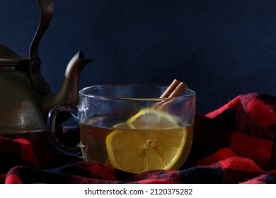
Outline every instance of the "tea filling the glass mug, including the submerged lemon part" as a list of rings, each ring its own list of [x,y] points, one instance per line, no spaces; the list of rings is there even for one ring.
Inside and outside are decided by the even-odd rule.
[[[180,168],[190,153],[193,124],[135,129],[129,122],[111,118],[93,117],[86,124],[80,123],[82,153],[86,160],[140,173]]]

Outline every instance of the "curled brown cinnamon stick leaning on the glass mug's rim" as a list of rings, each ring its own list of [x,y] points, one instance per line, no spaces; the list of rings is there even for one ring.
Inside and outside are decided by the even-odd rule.
[[[188,88],[187,84],[180,82],[176,79],[173,80],[170,86],[163,92],[163,94],[159,98],[173,98],[180,96],[186,89]],[[167,107],[172,100],[162,101],[156,103],[153,108],[162,110]]]

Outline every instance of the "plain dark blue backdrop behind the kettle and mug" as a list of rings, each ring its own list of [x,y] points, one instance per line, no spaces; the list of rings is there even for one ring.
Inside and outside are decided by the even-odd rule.
[[[39,18],[35,0],[1,1],[0,43],[28,57]],[[207,113],[239,94],[276,95],[276,1],[54,1],[39,50],[53,92],[81,50],[94,59],[81,88],[178,78]]]

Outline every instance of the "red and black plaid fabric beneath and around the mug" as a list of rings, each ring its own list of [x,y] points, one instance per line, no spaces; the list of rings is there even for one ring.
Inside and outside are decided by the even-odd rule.
[[[196,115],[192,151],[180,170],[132,174],[60,154],[45,165],[47,155],[42,163],[32,142],[0,137],[0,182],[276,183],[275,133],[276,98],[250,93]]]

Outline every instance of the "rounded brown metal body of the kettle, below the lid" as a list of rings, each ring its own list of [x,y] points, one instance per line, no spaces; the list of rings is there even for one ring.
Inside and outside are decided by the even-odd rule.
[[[0,133],[45,130],[41,96],[25,70],[0,68]]]

